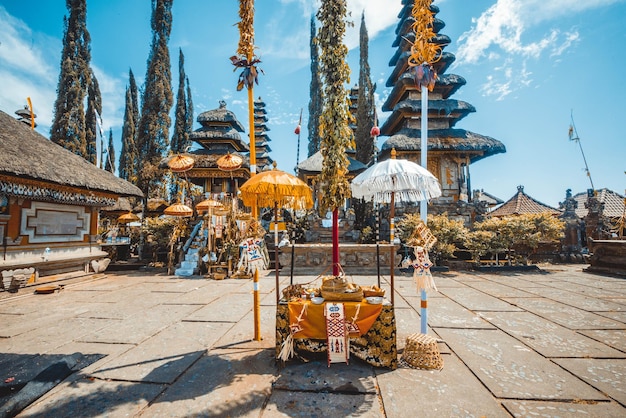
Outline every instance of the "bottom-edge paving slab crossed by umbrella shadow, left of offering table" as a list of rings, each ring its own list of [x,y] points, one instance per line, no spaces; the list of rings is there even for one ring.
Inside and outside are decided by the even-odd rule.
[[[212,350],[143,416],[258,417],[270,396],[275,372],[271,350]]]

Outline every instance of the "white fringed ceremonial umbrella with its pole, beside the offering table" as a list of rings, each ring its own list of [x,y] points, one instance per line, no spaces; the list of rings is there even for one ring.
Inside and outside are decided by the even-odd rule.
[[[441,196],[439,180],[424,167],[409,161],[397,160],[396,150],[391,150],[391,159],[378,162],[359,174],[350,185],[352,197],[372,200],[374,203],[390,204],[391,232],[391,303],[394,301],[394,258],[395,200],[399,202],[428,201]]]

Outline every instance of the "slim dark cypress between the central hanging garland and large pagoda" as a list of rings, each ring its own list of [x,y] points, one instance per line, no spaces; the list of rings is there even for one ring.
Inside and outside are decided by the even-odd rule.
[[[368,164],[374,156],[374,138],[371,135],[375,118],[374,90],[370,78],[369,37],[365,26],[365,13],[361,15],[360,27],[360,61],[359,61],[359,95],[356,107],[356,159]]]

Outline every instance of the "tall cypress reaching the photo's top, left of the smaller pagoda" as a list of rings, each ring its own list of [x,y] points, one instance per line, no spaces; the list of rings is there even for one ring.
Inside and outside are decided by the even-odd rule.
[[[170,55],[167,43],[172,29],[172,0],[152,1],[152,45],[137,129],[138,187],[144,199],[158,190],[164,170],[159,163],[168,146],[172,108]],[[144,205],[145,206],[145,205]]]

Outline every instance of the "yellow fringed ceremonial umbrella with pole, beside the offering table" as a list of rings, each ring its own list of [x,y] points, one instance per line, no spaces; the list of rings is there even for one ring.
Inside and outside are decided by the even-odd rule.
[[[274,165],[273,170],[252,176],[240,188],[239,197],[244,205],[274,207],[274,244],[278,251],[278,206],[291,209],[313,207],[313,191],[308,184]],[[276,269],[276,303],[279,300],[278,254],[274,257]]]

